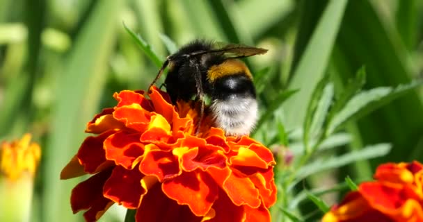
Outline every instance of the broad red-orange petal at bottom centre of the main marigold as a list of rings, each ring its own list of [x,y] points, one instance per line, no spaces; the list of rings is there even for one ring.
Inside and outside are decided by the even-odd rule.
[[[166,180],[162,189],[179,205],[188,205],[196,216],[205,216],[218,198],[216,182],[202,171],[184,172],[173,180]]]

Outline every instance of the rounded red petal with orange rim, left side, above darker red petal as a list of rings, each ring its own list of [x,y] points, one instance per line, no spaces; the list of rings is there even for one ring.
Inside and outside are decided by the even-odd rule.
[[[104,140],[104,150],[107,160],[132,169],[138,163],[138,157],[144,153],[144,144],[140,142],[138,133],[119,131]]]

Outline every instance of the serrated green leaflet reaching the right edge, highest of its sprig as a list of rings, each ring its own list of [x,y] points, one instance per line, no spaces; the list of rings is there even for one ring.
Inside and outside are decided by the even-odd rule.
[[[389,103],[390,101],[397,99],[399,96],[410,92],[416,87],[423,84],[423,80],[413,80],[411,83],[406,85],[399,85],[396,88],[392,87],[377,87],[369,89],[364,92],[356,94],[344,108],[330,121],[328,124],[328,130],[326,135],[330,135],[335,132],[337,128],[340,128],[343,123],[352,119],[358,119],[359,117],[380,108],[381,106]]]

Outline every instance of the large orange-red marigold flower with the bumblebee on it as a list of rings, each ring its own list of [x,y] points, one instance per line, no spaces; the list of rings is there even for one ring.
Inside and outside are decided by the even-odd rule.
[[[136,209],[136,221],[271,221],[276,202],[268,148],[225,137],[192,103],[170,103],[156,87],[148,94],[115,93],[118,105],[90,121],[62,179],[94,174],[71,195],[74,213],[96,221],[113,203]]]

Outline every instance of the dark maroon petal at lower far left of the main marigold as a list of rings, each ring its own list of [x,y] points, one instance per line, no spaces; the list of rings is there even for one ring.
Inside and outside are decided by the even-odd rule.
[[[110,175],[111,169],[99,172],[88,178],[88,180],[80,182],[72,189],[70,206],[74,214],[80,210],[88,210],[90,208],[97,210],[98,206],[96,205],[105,202],[104,199],[106,198],[103,196],[103,185]]]

